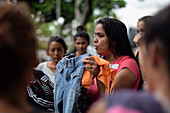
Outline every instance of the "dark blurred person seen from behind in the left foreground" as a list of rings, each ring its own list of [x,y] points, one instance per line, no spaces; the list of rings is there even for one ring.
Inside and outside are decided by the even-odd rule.
[[[34,26],[19,6],[7,3],[0,6],[0,59],[0,113],[33,113],[26,86],[36,65]]]

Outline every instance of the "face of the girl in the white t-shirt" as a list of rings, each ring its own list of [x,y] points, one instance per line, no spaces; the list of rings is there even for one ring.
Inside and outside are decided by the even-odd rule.
[[[64,55],[64,48],[62,44],[55,41],[51,42],[48,54],[50,55],[52,62],[57,64]]]

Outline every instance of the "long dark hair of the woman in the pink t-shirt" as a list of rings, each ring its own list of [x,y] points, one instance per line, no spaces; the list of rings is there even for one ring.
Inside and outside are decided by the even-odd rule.
[[[135,59],[127,35],[126,26],[119,20],[105,17],[99,19],[97,24],[102,24],[104,31],[109,39],[109,49],[115,57],[127,55]]]

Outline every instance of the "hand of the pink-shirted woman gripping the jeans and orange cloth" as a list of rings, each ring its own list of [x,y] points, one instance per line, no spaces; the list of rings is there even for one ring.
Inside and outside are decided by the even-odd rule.
[[[86,57],[82,60],[83,63],[89,64],[85,65],[85,70],[90,71],[93,76],[97,76],[99,74],[100,68],[97,62],[92,57]]]

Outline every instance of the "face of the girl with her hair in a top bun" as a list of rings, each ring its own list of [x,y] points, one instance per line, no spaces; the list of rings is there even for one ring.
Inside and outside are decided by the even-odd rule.
[[[85,38],[77,37],[77,39],[75,41],[75,47],[79,54],[82,55],[82,54],[86,53],[87,46],[88,46],[88,42]]]

